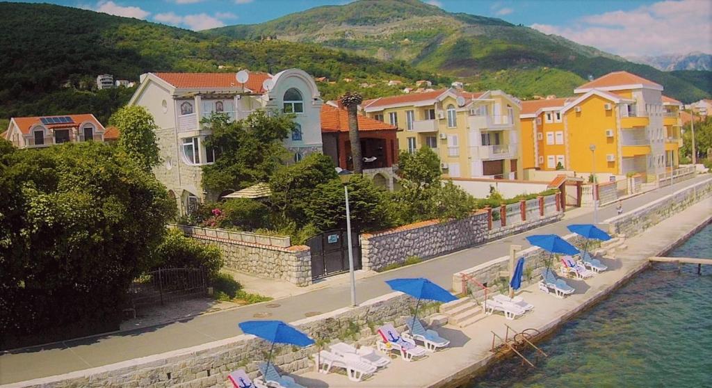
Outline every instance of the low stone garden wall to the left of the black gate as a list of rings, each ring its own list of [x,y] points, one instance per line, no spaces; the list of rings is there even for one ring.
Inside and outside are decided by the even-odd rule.
[[[311,251],[308,246],[290,246],[289,237],[186,225],[172,227],[200,243],[217,246],[223,253],[225,268],[295,285],[312,283]]]

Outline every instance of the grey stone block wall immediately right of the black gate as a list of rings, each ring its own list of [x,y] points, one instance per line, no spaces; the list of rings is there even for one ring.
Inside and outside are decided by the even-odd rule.
[[[423,221],[377,234],[361,235],[363,269],[378,271],[408,256],[429,258],[483,243],[487,236],[487,212],[464,219]]]

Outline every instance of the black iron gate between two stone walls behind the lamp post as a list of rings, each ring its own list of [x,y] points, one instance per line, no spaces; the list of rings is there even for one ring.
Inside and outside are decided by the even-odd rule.
[[[310,237],[307,245],[311,249],[312,278],[323,278],[349,271],[349,246],[346,229],[334,229]],[[351,246],[354,269],[361,269],[361,243],[357,231],[351,231]]]

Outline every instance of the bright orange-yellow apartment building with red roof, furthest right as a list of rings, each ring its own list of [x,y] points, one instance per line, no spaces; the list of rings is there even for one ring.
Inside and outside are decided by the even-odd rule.
[[[522,103],[523,168],[658,174],[679,164],[679,101],[632,73],[603,75],[575,96]],[[595,152],[590,150],[595,145]]]

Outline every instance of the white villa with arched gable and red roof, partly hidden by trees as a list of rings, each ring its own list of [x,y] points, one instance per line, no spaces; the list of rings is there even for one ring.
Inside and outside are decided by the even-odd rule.
[[[200,124],[202,117],[224,112],[242,120],[258,109],[294,113],[297,130],[284,145],[298,161],[323,152],[322,103],[313,78],[289,69],[275,75],[250,72],[245,83],[239,83],[235,73],[146,73],[129,105],[143,106],[155,118],[163,162],[154,172],[177,200],[181,214],[187,214],[199,201],[223,194],[201,187],[201,166],[215,157],[204,146],[211,130]]]

